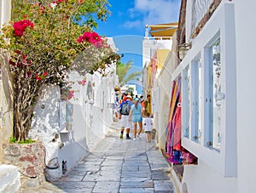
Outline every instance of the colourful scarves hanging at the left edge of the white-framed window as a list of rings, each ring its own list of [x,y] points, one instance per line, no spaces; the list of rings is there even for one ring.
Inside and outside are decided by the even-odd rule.
[[[181,156],[181,77],[173,82],[168,124],[166,128],[166,156],[168,161],[182,163]]]

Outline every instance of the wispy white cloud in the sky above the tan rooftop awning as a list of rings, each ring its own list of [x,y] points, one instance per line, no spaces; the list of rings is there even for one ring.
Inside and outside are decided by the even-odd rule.
[[[136,18],[140,14],[140,25],[153,25],[175,22],[178,20],[181,0],[135,0],[130,9],[130,17]],[[142,17],[143,15],[143,17]],[[131,22],[131,21],[130,21]],[[132,23],[132,22],[131,22]],[[139,23],[136,21],[136,23]]]

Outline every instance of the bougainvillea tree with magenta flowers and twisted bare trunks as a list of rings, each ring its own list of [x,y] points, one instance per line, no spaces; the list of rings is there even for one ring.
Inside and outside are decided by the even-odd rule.
[[[15,0],[12,22],[3,28],[1,48],[10,55],[14,132],[26,139],[38,95],[45,85],[67,85],[69,71],[104,72],[119,55],[92,31],[106,20],[108,0]],[[6,40],[9,39],[8,42]],[[84,62],[85,61],[85,62]],[[84,83],[84,82],[83,82]],[[65,99],[73,97],[68,90]]]

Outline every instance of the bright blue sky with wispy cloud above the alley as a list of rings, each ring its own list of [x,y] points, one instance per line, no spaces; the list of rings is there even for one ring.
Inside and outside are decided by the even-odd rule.
[[[99,22],[96,32],[113,37],[123,63],[133,61],[131,71],[142,71],[145,26],[177,22],[181,0],[108,0],[112,14]]]

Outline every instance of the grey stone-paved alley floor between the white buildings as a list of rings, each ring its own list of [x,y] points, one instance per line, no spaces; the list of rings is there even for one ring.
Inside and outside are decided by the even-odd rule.
[[[119,122],[93,152],[54,183],[19,192],[161,192],[177,193],[170,166],[154,140],[119,139]]]

